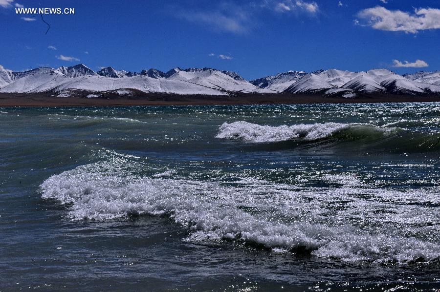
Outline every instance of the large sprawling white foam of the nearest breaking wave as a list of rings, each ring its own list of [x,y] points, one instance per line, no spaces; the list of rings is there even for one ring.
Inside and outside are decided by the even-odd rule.
[[[44,199],[66,204],[71,220],[169,216],[189,229],[188,241],[306,249],[349,262],[439,262],[440,243],[432,232],[440,201],[430,201],[439,188],[367,188],[350,175],[320,179],[343,186],[301,188],[252,178],[225,186],[162,174],[139,177],[98,162],[53,175],[40,187]]]

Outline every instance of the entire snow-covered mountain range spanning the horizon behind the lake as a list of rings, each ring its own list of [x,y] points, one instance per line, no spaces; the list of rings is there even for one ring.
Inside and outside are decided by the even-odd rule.
[[[98,97],[108,93],[121,96],[145,93],[287,93],[347,98],[374,93],[440,96],[440,71],[404,75],[388,69],[288,71],[246,81],[236,72],[213,68],[177,67],[167,72],[151,68],[136,73],[106,67],[95,72],[84,64],[77,64],[14,72],[0,66],[0,92],[43,92],[59,97]]]

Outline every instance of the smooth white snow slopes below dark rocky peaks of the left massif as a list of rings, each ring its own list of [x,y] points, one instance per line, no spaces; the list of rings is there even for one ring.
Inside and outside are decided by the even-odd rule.
[[[106,68],[100,73],[114,75],[112,68]],[[66,77],[63,70],[39,68],[25,72],[24,77],[1,88],[1,92],[66,92],[79,89],[91,92],[110,91],[118,89],[135,89],[142,92],[162,92],[177,94],[208,94],[224,95],[229,92],[255,92],[260,89],[247,81],[237,81],[234,78],[214,69],[180,70],[170,78],[152,78],[146,75],[132,77],[107,77],[101,75],[85,75],[76,78]],[[158,70],[157,70],[158,71]],[[109,74],[110,73],[110,74]],[[117,76],[127,74],[117,71]],[[154,73],[154,72],[151,72]],[[156,72],[160,74],[160,72]],[[161,72],[163,73],[163,72]],[[267,92],[260,90],[262,92]]]

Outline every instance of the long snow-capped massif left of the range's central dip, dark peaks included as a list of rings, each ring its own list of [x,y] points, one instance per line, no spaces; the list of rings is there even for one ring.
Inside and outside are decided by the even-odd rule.
[[[248,83],[235,72],[226,71],[228,74],[225,74],[212,68],[185,70],[175,68],[166,74],[157,69],[143,70],[140,73],[118,71],[112,67],[96,73],[89,70],[83,64],[58,69],[42,67],[24,72],[2,69],[0,92],[53,92],[58,96],[74,95],[77,91],[92,93],[111,91],[117,94],[140,91],[206,95],[273,92]],[[167,75],[168,78],[165,78]]]

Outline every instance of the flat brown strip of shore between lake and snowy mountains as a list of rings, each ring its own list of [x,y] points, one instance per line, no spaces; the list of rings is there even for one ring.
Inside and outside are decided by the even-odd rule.
[[[133,97],[51,97],[44,94],[0,93],[0,107],[131,106],[131,105],[253,105],[440,102],[439,96],[372,95],[354,99],[320,95],[238,94],[236,96],[147,94]]]

